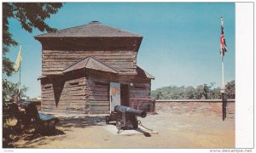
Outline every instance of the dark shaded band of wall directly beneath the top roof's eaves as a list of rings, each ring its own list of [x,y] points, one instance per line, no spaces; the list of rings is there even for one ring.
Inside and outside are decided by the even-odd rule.
[[[41,37],[44,50],[132,50],[137,52],[143,37]]]

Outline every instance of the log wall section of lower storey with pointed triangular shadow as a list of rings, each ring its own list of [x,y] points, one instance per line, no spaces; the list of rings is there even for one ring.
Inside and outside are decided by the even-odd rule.
[[[56,82],[55,80],[59,81]],[[79,77],[67,80],[67,77],[55,77],[48,82],[42,82],[42,109],[44,111],[66,112],[85,111],[87,78]]]

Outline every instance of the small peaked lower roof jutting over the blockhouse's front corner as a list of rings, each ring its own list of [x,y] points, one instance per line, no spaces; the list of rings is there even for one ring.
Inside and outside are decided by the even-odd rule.
[[[90,56],[86,57],[85,59],[80,60],[78,63],[75,63],[74,65],[67,67],[67,69],[62,71],[62,73],[66,73],[68,71],[75,71],[75,70],[79,70],[79,69],[83,69],[83,68],[93,69],[93,70],[97,70],[97,71],[108,71],[111,73],[118,73],[118,71],[116,71],[109,65],[106,65],[106,64],[102,63],[101,61],[94,59],[93,57],[90,57]]]

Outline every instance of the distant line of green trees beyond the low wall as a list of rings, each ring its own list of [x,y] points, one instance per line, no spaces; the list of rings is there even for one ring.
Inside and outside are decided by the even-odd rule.
[[[168,86],[157,88],[151,92],[154,99],[221,99],[220,88],[213,88],[215,83],[199,85],[196,88]],[[235,80],[227,82],[225,85],[225,99],[235,99]]]

